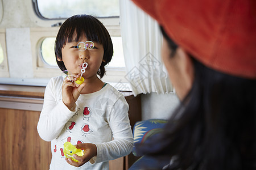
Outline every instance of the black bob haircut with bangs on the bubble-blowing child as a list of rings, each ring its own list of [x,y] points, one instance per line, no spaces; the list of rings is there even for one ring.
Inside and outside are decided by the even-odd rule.
[[[82,36],[86,36],[87,40],[98,42],[104,48],[104,62],[101,63],[97,74],[102,78],[105,74],[105,65],[107,65],[113,56],[113,44],[109,32],[104,25],[91,15],[74,15],[65,20],[61,25],[55,41],[55,57],[57,65],[62,71],[67,70],[62,61],[61,49],[67,42],[75,39],[80,41]],[[58,59],[60,61],[58,61]]]

